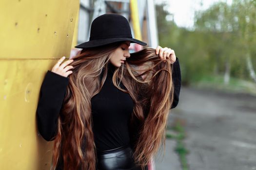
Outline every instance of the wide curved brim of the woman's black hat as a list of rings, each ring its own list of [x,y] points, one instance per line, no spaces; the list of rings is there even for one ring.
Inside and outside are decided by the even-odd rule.
[[[147,43],[142,42],[135,38],[121,37],[121,38],[105,38],[105,39],[90,40],[90,41],[87,41],[87,42],[84,42],[82,44],[75,46],[75,48],[84,49],[84,48],[89,48],[89,47],[98,47],[98,46],[102,46],[102,45],[106,45],[106,44],[110,44],[110,43],[114,43],[114,42],[119,42],[119,41],[131,41],[131,43],[137,43],[142,46],[147,45]]]

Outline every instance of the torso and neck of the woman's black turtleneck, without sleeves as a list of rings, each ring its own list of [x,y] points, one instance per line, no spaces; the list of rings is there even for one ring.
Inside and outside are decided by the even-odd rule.
[[[128,123],[134,102],[128,93],[113,84],[116,68],[111,63],[108,66],[102,89],[91,99],[93,132],[98,151],[114,149],[130,142]],[[124,88],[122,84],[120,86]]]

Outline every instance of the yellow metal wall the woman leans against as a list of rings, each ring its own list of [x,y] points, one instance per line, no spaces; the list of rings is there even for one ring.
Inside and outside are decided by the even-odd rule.
[[[49,170],[36,126],[46,71],[69,56],[79,0],[0,0],[0,170]],[[67,58],[66,57],[66,58]]]

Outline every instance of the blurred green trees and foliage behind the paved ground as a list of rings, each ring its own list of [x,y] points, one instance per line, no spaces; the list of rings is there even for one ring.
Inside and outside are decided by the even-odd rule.
[[[217,2],[197,11],[193,31],[167,21],[170,14],[163,10],[164,5],[156,6],[159,44],[175,50],[183,84],[225,72],[252,80],[245,56],[250,55],[256,71],[256,0],[233,0],[231,5]]]

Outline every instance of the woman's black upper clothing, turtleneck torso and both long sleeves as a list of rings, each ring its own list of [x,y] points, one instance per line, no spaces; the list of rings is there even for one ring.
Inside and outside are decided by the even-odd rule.
[[[98,151],[110,150],[130,142],[128,123],[133,112],[134,102],[129,94],[113,85],[115,66],[111,63],[101,91],[91,99],[93,132]],[[177,106],[181,85],[178,58],[173,64],[174,102]],[[37,106],[37,125],[40,135],[47,141],[54,140],[57,134],[58,117],[62,107],[69,78],[50,70],[42,82]],[[120,84],[122,88],[125,87]],[[170,108],[170,109],[171,109]]]

